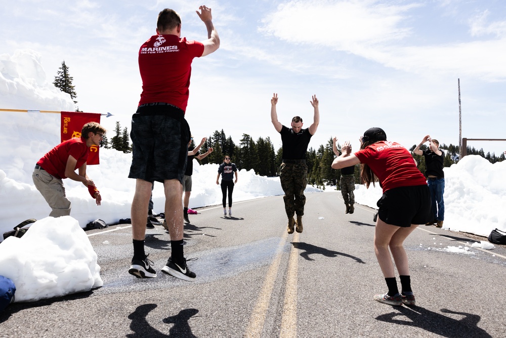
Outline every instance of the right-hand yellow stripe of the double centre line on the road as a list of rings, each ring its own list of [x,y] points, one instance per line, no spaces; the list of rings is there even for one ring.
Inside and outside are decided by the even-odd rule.
[[[299,233],[293,234],[293,242],[299,242]],[[297,269],[299,250],[290,249],[288,271],[286,272],[285,298],[281,316],[280,338],[297,337]]]

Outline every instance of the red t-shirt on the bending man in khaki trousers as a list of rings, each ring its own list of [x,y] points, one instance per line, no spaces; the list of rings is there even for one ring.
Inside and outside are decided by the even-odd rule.
[[[90,148],[86,145],[85,139],[76,137],[55,146],[43,158],[38,160],[37,164],[51,175],[63,179],[67,178],[65,176],[65,167],[67,166],[69,155],[72,155],[77,160],[74,168],[76,170],[86,163],[88,154],[90,154]]]

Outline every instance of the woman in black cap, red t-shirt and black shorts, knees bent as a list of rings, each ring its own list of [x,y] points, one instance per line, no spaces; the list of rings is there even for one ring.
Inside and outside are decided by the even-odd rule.
[[[351,154],[350,142],[344,142],[342,155],[332,162],[333,169],[361,163],[361,178],[369,187],[379,181],[383,196],[378,200],[378,217],[374,233],[374,252],[387,282],[388,292],[376,294],[374,300],[389,305],[414,305],[408,257],[404,240],[418,224],[428,222],[431,198],[425,176],[416,168],[413,157],[402,145],[387,141],[381,128],[370,128],[360,137],[360,151]],[[390,251],[389,251],[390,248]],[[390,255],[392,253],[392,256]],[[394,265],[399,272],[399,293]]]

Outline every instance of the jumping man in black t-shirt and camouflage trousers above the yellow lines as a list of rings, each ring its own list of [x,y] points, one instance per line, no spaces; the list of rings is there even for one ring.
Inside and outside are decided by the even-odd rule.
[[[296,116],[291,120],[291,128],[288,128],[278,121],[276,112],[278,95],[274,94],[271,99],[271,122],[276,131],[281,134],[281,142],[283,144],[283,163],[281,163],[279,168],[279,180],[285,193],[283,200],[286,216],[288,217],[288,234],[293,233],[294,227],[298,233],[302,233],[303,231],[302,216],[304,215],[304,205],[306,204],[304,190],[308,183],[306,153],[311,136],[316,133],[316,129],[320,123],[320,112],[316,95],[313,95],[310,102],[314,108],[313,124],[307,129],[302,129],[302,119]],[[294,214],[297,214],[297,221],[293,218]]]

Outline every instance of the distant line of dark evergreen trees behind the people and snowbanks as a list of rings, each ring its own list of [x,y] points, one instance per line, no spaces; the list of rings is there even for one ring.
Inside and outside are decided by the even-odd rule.
[[[195,142],[199,142],[199,139],[192,140],[192,147],[195,146]],[[105,148],[112,148],[123,153],[130,153],[132,146],[130,143],[129,132],[127,128],[121,130],[119,122],[116,122],[115,135],[111,141],[108,141],[104,137],[103,142],[100,146]],[[237,165],[237,168],[254,170],[257,175],[261,176],[278,176],[279,166],[282,161],[282,148],[280,147],[277,151],[274,149],[274,145],[269,137],[259,137],[254,140],[248,134],[242,134],[242,138],[239,140],[239,144],[236,144],[231,136],[225,134],[223,129],[221,131],[215,131],[213,135],[207,136],[207,141],[200,148],[200,153],[205,153],[213,147],[213,153],[199,161],[200,164],[223,163],[225,155],[229,155],[232,162]],[[416,145],[413,145],[409,150],[412,152]],[[445,151],[444,166],[449,167],[458,161],[458,146],[452,144],[446,145],[441,144],[440,149]],[[427,146],[424,144],[420,147],[420,150],[425,151]],[[338,144],[338,151],[341,151],[341,145]],[[504,160],[504,154],[496,157],[494,153],[490,154],[483,151],[481,148],[477,151],[474,147],[467,147],[468,155],[480,155],[481,157],[490,161],[490,163],[500,162]],[[423,156],[412,154],[418,168],[422,173],[425,174],[425,160]],[[318,149],[309,148],[306,154],[306,163],[308,165],[308,183],[322,187],[325,189],[325,185],[338,185],[341,177],[341,170],[333,170],[330,168],[335,155],[332,151],[332,139],[329,138],[325,145],[320,145]],[[355,168],[355,182],[360,184],[360,165]]]

